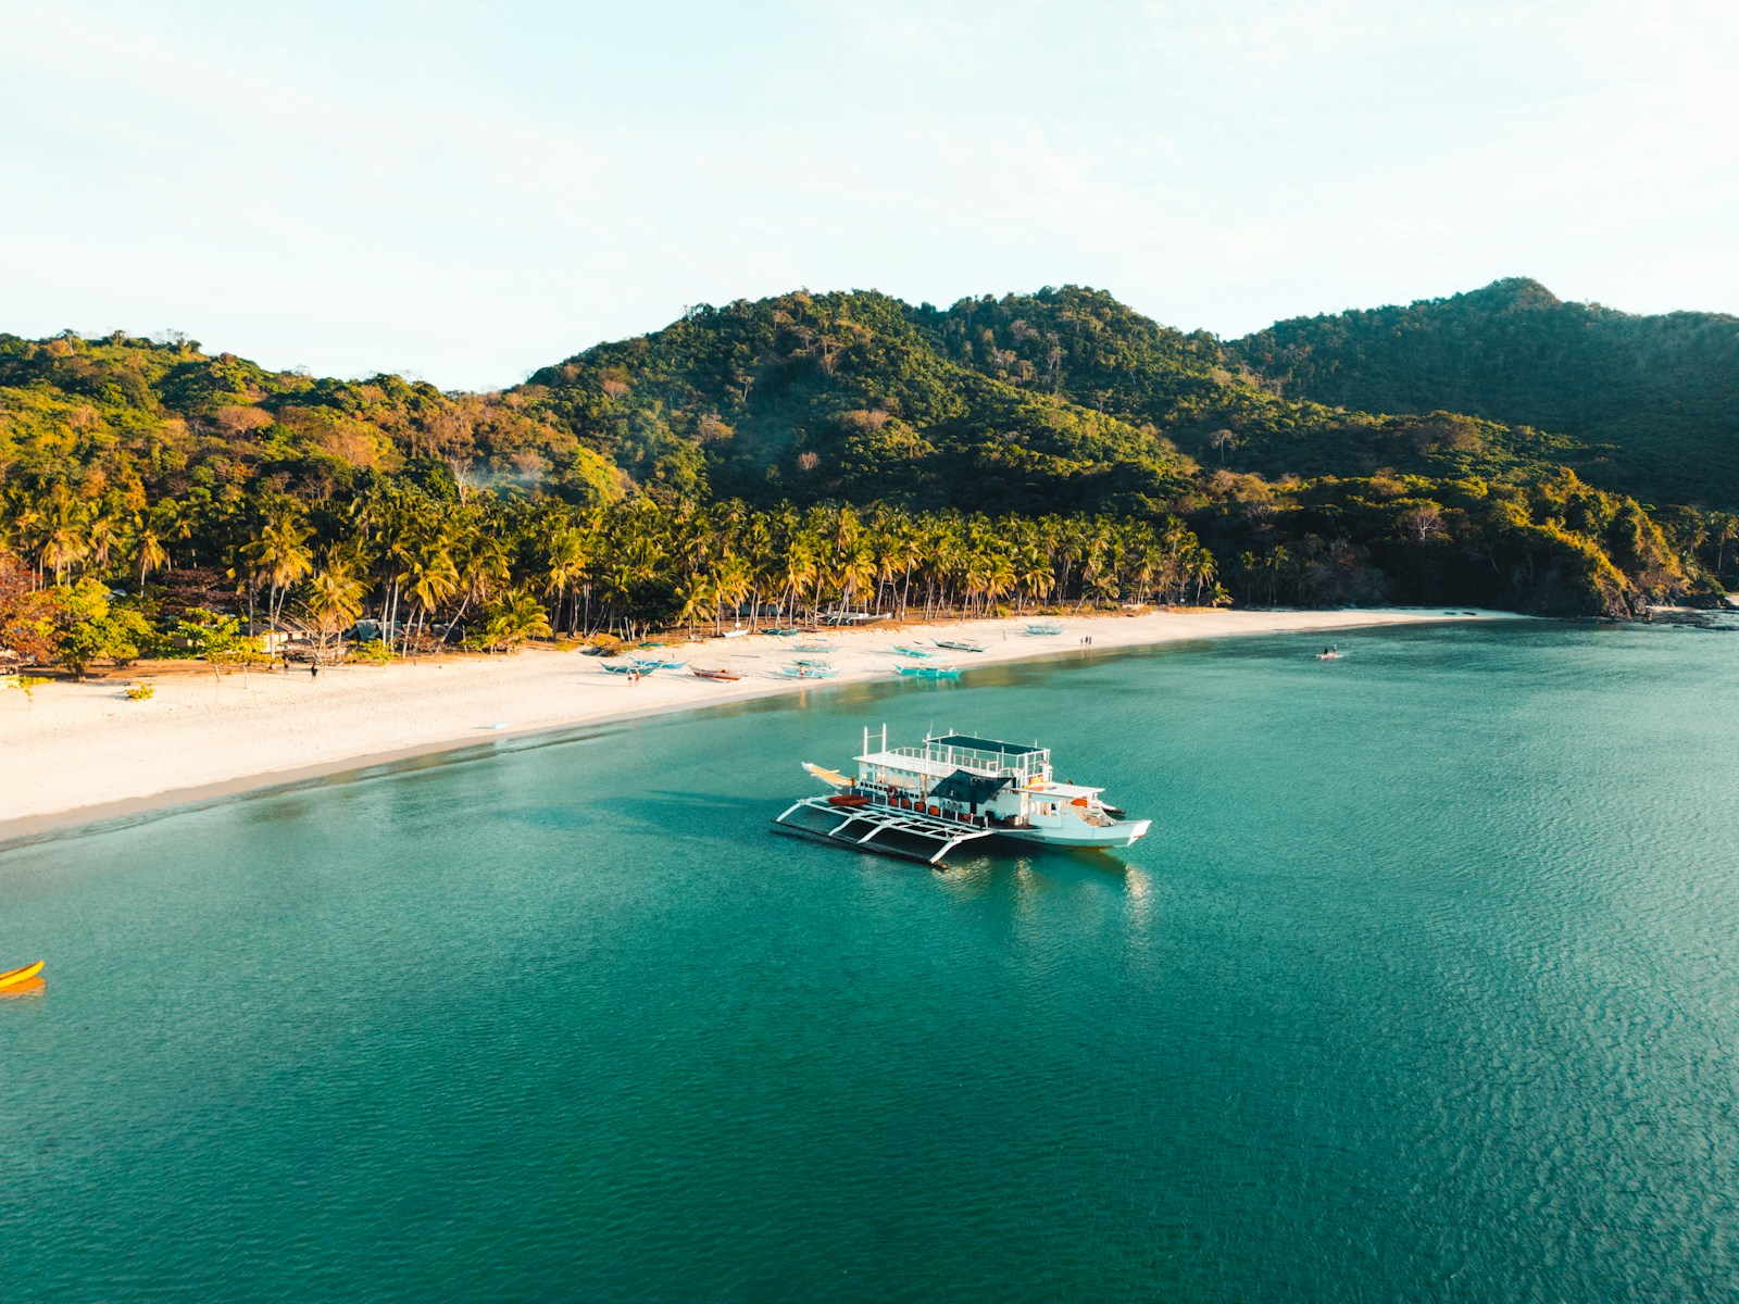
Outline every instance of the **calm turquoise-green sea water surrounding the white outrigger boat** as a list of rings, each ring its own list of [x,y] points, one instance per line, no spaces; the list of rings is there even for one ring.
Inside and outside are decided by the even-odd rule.
[[[0,1299],[1730,1299],[1739,636],[1202,643],[0,852]],[[770,836],[863,725],[1156,819]]]

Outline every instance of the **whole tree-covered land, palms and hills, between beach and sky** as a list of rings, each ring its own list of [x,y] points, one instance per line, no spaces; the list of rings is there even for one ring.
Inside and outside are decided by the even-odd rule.
[[[1080,287],[793,292],[499,393],[0,336],[0,649],[82,673],[268,629],[336,654],[358,621],[384,657],[831,607],[1715,603],[1736,363],[1732,316],[1525,280],[1243,341]]]

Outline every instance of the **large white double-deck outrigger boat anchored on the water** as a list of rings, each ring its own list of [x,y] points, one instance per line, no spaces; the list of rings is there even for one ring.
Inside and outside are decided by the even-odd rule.
[[[864,730],[857,777],[803,763],[828,793],[805,796],[774,819],[774,829],[842,847],[943,864],[979,838],[1045,847],[1129,847],[1153,821],[1123,819],[1099,800],[1103,788],[1059,782],[1050,749],[1024,742],[943,734],[916,748],[870,746]]]

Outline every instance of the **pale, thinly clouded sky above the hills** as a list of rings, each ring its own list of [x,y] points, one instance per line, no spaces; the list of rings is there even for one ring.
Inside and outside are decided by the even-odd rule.
[[[687,304],[1739,311],[1734,3],[0,0],[0,330],[497,388]]]

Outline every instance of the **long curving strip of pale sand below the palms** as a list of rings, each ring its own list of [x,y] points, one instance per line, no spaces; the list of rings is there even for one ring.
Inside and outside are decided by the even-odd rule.
[[[793,643],[824,638],[838,652],[828,683],[892,680],[915,664],[896,643],[969,638],[983,654],[941,654],[937,664],[967,669],[1023,657],[1236,635],[1360,629],[1449,619],[1520,619],[1506,612],[1449,617],[1442,610],[1334,612],[1144,612],[1063,617],[1057,636],[1024,633],[1028,619],[972,621],[892,629],[870,626],[812,638],[750,635],[678,643],[670,659],[723,666],[736,683],[657,671],[638,683],[610,675],[577,650],[527,650],[503,657],[334,666],[289,673],[177,673],[151,680],[157,694],[129,701],[122,678],[52,683],[0,695],[0,840],[47,828],[123,815],[153,805],[197,802],[231,791],[372,765],[423,751],[588,722],[716,706],[772,694],[824,690],[783,678]],[[1299,649],[1306,654],[1308,649]]]

